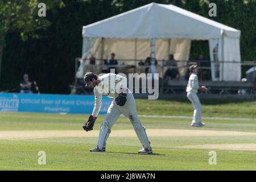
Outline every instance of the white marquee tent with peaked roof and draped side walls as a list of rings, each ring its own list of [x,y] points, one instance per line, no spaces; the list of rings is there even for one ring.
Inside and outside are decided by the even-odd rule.
[[[240,30],[177,6],[150,3],[82,27],[82,59],[105,59],[115,52],[116,59],[144,60],[155,39],[156,59],[167,60],[172,53],[182,66],[189,60],[191,40],[209,40],[213,81],[240,81],[240,35]],[[82,61],[77,77],[84,65]]]

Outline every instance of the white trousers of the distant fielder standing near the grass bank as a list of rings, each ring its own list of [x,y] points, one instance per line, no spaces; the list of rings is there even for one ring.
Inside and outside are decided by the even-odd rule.
[[[187,97],[189,101],[192,102],[194,107],[194,115],[192,123],[200,123],[201,122],[201,113],[202,113],[202,106],[200,100],[195,92],[188,92]]]

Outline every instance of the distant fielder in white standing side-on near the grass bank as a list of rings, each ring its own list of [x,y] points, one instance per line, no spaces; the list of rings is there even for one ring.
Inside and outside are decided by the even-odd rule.
[[[199,89],[205,91],[207,90],[207,88],[205,86],[199,86],[199,81],[197,77],[197,65],[191,65],[191,67],[189,67],[189,71],[191,72],[191,75],[188,80],[186,92],[189,101],[192,102],[194,107],[193,121],[191,123],[191,126],[203,127],[205,124],[201,122],[202,106],[197,96],[197,91]]]

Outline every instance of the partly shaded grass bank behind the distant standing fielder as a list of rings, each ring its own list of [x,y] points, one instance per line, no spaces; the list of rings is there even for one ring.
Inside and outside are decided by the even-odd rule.
[[[203,105],[203,116],[256,118],[256,100],[242,98],[207,98],[200,100]],[[136,103],[140,114],[187,116],[192,114],[192,105],[187,98],[150,101],[137,99]]]

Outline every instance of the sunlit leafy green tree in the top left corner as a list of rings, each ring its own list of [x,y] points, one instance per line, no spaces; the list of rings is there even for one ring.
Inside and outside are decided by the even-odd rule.
[[[5,37],[9,32],[20,32],[23,40],[27,34],[33,34],[35,30],[45,30],[51,22],[38,16],[38,5],[42,1],[38,0],[1,0],[0,1],[0,78],[1,63],[3,55],[3,45]],[[47,9],[52,9],[56,5],[63,6],[61,0],[43,1]],[[36,35],[34,34],[35,38]]]

